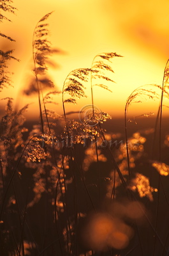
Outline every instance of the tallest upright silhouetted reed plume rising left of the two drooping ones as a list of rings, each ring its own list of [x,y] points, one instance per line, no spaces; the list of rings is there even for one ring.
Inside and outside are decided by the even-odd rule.
[[[45,118],[48,123],[47,109],[45,107],[45,101],[43,97],[43,88],[54,88],[54,83],[47,77],[48,65],[51,61],[48,60],[49,56],[54,53],[62,52],[59,49],[51,47],[50,41],[48,41],[48,23],[45,23],[52,12],[43,16],[35,26],[33,33],[33,61],[34,61],[34,76],[36,78],[36,90],[38,92],[40,119],[41,119],[41,132],[44,133],[43,115],[41,109],[41,101],[43,102],[43,108],[45,110]],[[43,85],[43,86],[42,86]],[[33,86],[34,87],[34,86]],[[50,132],[50,127],[48,125]]]

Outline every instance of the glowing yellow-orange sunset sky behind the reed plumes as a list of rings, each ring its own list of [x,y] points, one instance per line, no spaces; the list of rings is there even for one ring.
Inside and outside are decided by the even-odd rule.
[[[169,57],[169,2],[145,0],[15,0],[16,15],[8,15],[13,23],[1,24],[1,31],[15,38],[15,43],[6,47],[15,49],[15,57],[20,63],[13,63],[11,69],[14,88],[2,93],[2,97],[15,97],[20,107],[27,102],[29,111],[37,105],[38,99],[24,97],[21,93],[26,86],[32,60],[32,36],[38,20],[48,12],[52,13],[50,41],[54,47],[66,53],[54,56],[59,69],[50,70],[59,90],[68,73],[75,68],[91,67],[92,59],[101,52],[117,52],[124,58],[115,58],[112,64],[115,74],[110,84],[113,93],[94,88],[94,104],[113,116],[124,115],[124,106],[130,93],[143,84],[161,84],[163,70]],[[1,41],[6,45],[6,41]],[[77,111],[91,104],[90,88],[86,90],[87,99],[78,104],[67,105],[67,111]],[[2,98],[1,97],[1,98]],[[55,100],[59,103],[52,108],[62,113],[61,95]],[[143,99],[143,101],[145,101]],[[147,111],[147,106],[149,109]],[[153,108],[152,108],[153,106]],[[156,108],[154,109],[154,106]],[[141,107],[141,108],[140,108]],[[131,106],[131,115],[157,110],[158,101]],[[138,110],[140,112],[138,114]],[[168,109],[166,109],[168,111]],[[129,109],[130,111],[130,109]],[[38,107],[37,107],[38,113]],[[129,112],[130,113],[130,112]],[[38,115],[38,114],[37,114]]]

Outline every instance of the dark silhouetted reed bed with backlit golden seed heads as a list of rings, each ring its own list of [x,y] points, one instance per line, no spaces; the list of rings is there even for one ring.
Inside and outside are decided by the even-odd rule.
[[[3,0],[1,8],[4,13],[16,12],[9,0]],[[34,79],[24,92],[36,93],[40,120],[27,123],[24,113],[29,105],[15,111],[13,99],[3,99],[1,255],[168,255],[169,134],[163,129],[168,61],[161,85],[140,86],[129,95],[122,129],[115,131],[115,120],[94,105],[94,86],[114,90],[114,58],[122,56],[98,54],[91,67],[71,71],[62,92],[57,92],[48,76],[47,61],[59,52],[48,39],[50,15],[52,12],[35,26]],[[1,15],[2,22],[4,19],[8,17]],[[12,50],[0,54],[3,90],[11,85],[8,61],[18,60]],[[68,109],[77,99],[87,97],[87,86],[91,102],[79,109],[76,120],[70,119]],[[48,108],[55,94],[62,98],[62,116],[57,109]],[[132,104],[142,106],[145,100],[155,99],[157,115],[147,112],[128,117]],[[151,125],[139,129],[139,120],[145,118]],[[128,129],[131,124],[133,132]]]

